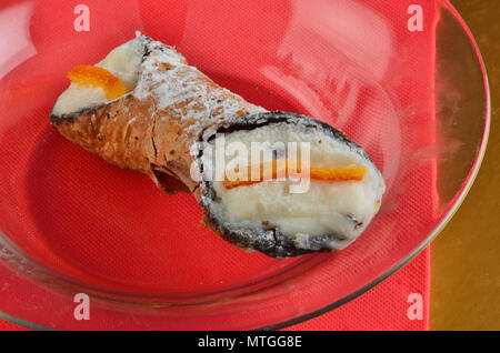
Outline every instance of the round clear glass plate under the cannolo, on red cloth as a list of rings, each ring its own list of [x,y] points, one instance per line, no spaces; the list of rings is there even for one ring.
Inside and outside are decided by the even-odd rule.
[[[394,273],[478,172],[488,82],[448,1],[422,6],[422,31],[404,1],[86,4],[89,31],[73,4],[0,6],[1,317],[36,329],[283,327]],[[288,260],[246,253],[199,224],[190,195],[166,195],[59,135],[49,112],[66,73],[136,30],[248,101],[318,118],[363,145],[388,191],[360,239]],[[76,293],[90,295],[90,321],[74,320]]]

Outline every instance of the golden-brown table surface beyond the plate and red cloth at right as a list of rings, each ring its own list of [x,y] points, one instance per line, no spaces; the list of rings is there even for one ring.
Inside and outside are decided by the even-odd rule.
[[[492,120],[476,182],[431,245],[430,325],[432,330],[500,330],[500,1],[451,2],[483,56]]]

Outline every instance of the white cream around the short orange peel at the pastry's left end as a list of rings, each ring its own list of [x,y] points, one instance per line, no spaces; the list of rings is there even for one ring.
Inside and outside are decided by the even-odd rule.
[[[113,49],[96,67],[106,69],[118,77],[123,82],[126,90],[131,91],[139,79],[143,52],[143,37],[138,37]],[[84,108],[103,104],[107,101],[108,99],[102,88],[82,87],[71,83],[57,100],[52,114],[70,114]]]

